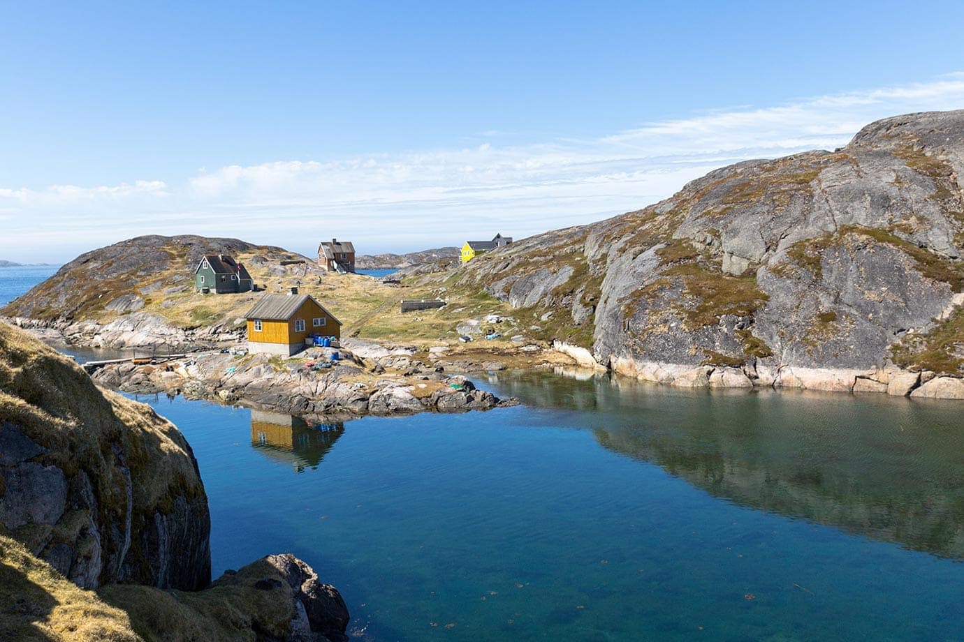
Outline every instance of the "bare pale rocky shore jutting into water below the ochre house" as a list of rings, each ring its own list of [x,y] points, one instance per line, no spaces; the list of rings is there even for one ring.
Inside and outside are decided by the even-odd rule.
[[[355,346],[369,356],[348,347],[313,347],[288,359],[199,352],[167,363],[111,364],[92,376],[102,386],[127,393],[183,394],[292,415],[465,412],[518,403],[476,389],[463,374],[446,372],[451,362],[425,364],[411,358],[412,350],[406,348],[388,350],[367,342]]]

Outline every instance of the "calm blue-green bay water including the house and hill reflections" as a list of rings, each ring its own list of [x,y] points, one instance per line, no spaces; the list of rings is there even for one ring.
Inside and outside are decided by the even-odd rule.
[[[365,640],[957,640],[960,405],[542,374],[515,408],[315,429],[148,399],[216,574],[294,552]]]

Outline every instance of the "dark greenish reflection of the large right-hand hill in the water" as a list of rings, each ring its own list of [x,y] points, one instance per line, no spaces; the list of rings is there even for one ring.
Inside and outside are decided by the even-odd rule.
[[[711,495],[964,559],[964,422],[955,402],[677,391],[631,379],[503,376],[605,449]]]

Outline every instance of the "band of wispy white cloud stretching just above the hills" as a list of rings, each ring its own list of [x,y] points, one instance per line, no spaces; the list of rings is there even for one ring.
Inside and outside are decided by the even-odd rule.
[[[331,162],[201,170],[182,184],[0,188],[0,258],[67,259],[139,234],[229,235],[310,252],[515,237],[589,222],[670,195],[712,168],[843,145],[884,116],[964,107],[964,73],[646,124],[593,140],[413,150]],[[29,251],[33,248],[33,251]]]

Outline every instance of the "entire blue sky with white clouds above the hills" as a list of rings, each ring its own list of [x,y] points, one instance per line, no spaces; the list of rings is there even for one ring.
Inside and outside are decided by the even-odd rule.
[[[964,108],[961,24],[951,2],[0,3],[0,258],[589,222]]]

